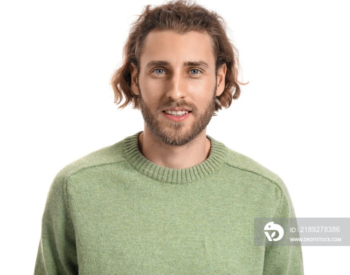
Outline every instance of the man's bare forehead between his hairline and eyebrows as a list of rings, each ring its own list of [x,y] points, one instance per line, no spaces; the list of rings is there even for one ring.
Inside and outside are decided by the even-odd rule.
[[[152,30],[143,42],[140,65],[151,60],[164,60],[170,64],[204,61],[215,65],[211,37],[198,31],[179,33],[171,30]]]

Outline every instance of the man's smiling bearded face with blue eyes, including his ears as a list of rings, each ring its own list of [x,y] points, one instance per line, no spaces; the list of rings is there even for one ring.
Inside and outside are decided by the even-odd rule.
[[[209,123],[215,97],[224,88],[226,67],[215,75],[208,34],[153,30],[143,42],[139,73],[131,89],[149,132],[167,145],[191,142]]]

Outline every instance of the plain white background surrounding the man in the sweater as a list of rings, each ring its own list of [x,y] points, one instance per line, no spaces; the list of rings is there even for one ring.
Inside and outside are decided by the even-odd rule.
[[[249,84],[207,134],[285,182],[297,217],[349,217],[347,1],[198,0],[219,12]],[[31,274],[47,191],[77,158],[143,129],[108,82],[132,15],[156,0],[0,4],[1,274]],[[345,274],[350,247],[303,247]]]

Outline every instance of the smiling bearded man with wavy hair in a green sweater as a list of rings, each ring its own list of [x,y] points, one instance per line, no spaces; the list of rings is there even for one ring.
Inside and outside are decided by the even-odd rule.
[[[239,96],[237,68],[216,13],[145,8],[111,79],[144,131],[57,174],[35,274],[303,273],[300,247],[254,246],[255,217],[295,217],[283,182],[206,136]]]

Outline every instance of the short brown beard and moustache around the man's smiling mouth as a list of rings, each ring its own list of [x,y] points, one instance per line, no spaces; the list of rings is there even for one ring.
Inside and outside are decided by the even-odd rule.
[[[139,87],[138,90],[138,104],[143,120],[147,129],[151,135],[155,137],[155,140],[158,141],[160,146],[162,144],[172,146],[190,145],[208,125],[215,111],[216,85],[213,91],[213,97],[206,105],[206,107],[202,110],[202,112],[199,112],[198,108],[194,104],[187,102],[184,99],[175,102],[171,98],[159,104],[159,106],[154,111],[152,111],[142,100],[142,92]],[[193,121],[192,125],[190,125],[190,128],[188,129],[188,127],[185,127],[188,124],[186,121],[174,122],[168,119],[165,120],[166,127],[161,127],[159,115],[162,113],[162,110],[177,107],[183,107],[184,109],[191,110]]]

